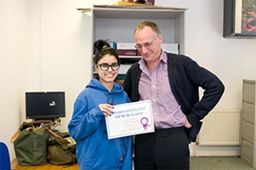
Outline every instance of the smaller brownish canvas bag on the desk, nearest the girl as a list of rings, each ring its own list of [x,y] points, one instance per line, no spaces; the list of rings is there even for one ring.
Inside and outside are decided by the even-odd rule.
[[[54,165],[68,165],[77,163],[77,142],[71,137],[62,138],[60,135],[52,132],[53,136],[48,140],[48,161]]]

